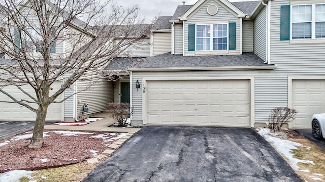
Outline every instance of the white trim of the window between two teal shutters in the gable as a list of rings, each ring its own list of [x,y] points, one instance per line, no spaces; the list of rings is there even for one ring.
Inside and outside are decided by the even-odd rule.
[[[226,45],[226,50],[213,50],[213,38],[224,38],[223,36],[221,37],[214,37],[213,36],[213,25],[222,25],[222,24],[225,24],[227,26],[227,33],[226,33],[226,38],[227,38],[227,45]],[[197,50],[197,26],[198,25],[210,25],[210,50],[200,50],[198,51]],[[220,22],[220,23],[200,23],[200,24],[195,24],[195,51],[196,51],[196,54],[200,52],[218,52],[218,53],[228,53],[229,51],[229,23],[225,23],[225,22]],[[206,37],[200,37],[200,38],[206,38]]]

